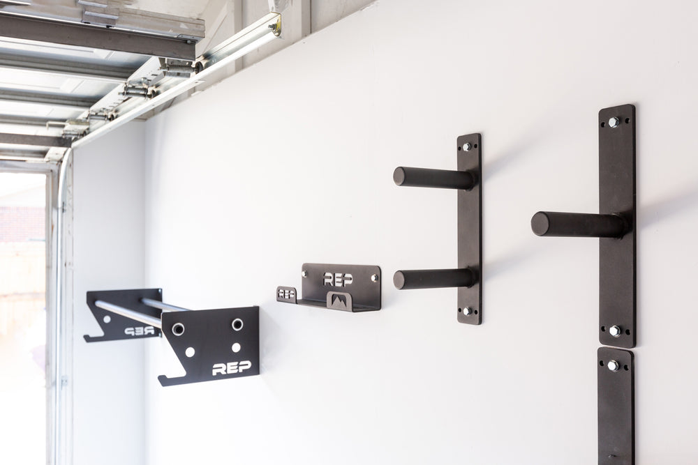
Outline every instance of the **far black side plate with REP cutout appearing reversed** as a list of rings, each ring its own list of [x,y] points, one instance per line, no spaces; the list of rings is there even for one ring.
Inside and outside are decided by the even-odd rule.
[[[140,321],[135,321],[119,314],[107,312],[96,305],[96,300],[104,300],[129,310],[160,318],[162,310],[149,307],[140,302],[142,298],[151,300],[163,300],[162,289],[126,289],[119,291],[89,291],[87,293],[87,305],[94,318],[99,323],[104,333],[103,336],[84,335],[87,342],[115,341],[121,339],[142,339],[143,337],[160,337],[161,331],[154,326],[147,326]]]

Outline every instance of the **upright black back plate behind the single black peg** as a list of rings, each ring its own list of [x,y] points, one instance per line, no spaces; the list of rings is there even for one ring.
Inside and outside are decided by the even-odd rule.
[[[617,118],[613,128],[609,119]],[[599,213],[623,217],[622,238],[599,241],[599,341],[635,346],[635,107],[621,105],[599,112]],[[611,326],[621,328],[618,337]]]

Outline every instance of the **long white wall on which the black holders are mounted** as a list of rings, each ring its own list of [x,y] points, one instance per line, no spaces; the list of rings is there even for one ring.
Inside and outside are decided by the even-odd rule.
[[[597,112],[629,102],[637,463],[698,462],[697,13],[381,0],[151,119],[145,284],[184,307],[260,305],[262,374],[161,388],[177,361],[147,341],[146,462],[594,463],[597,241],[529,221],[597,211]],[[455,289],[391,282],[456,266],[456,195],[398,188],[393,169],[454,169],[469,132],[484,145],[479,327],[456,323]],[[306,261],[380,265],[383,310],[276,303]]]

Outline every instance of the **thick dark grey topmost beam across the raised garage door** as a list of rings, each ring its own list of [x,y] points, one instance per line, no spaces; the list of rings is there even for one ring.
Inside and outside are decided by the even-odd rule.
[[[191,39],[154,36],[8,13],[0,13],[0,36],[181,60],[196,58],[195,41]]]

